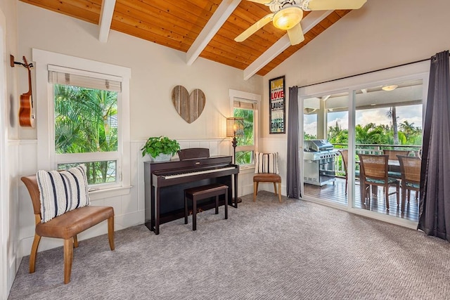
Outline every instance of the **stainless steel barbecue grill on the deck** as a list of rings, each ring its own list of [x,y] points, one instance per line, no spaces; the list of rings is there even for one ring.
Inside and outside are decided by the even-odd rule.
[[[338,150],[327,140],[308,140],[303,143],[304,183],[325,185],[335,182],[335,157]]]

